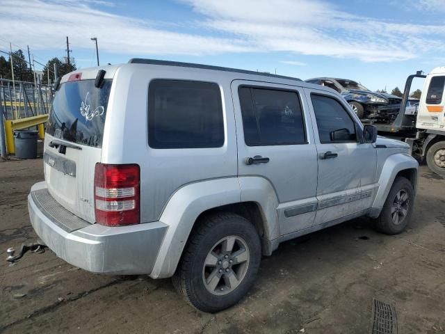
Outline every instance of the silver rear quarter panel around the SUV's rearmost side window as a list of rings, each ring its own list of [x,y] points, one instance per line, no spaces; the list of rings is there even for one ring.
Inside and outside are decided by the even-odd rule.
[[[236,132],[230,80],[215,71],[187,67],[122,65],[115,73],[104,131],[102,163],[138,164],[141,222],[156,221],[172,195],[186,184],[237,175]],[[148,145],[148,90],[152,79],[208,81],[223,98],[225,142],[221,148],[154,149]]]

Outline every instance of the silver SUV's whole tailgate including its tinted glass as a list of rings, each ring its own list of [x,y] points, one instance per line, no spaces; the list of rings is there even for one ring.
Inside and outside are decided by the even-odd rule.
[[[100,162],[111,80],[60,85],[44,140],[44,175],[51,196],[76,216],[95,223],[94,177]]]

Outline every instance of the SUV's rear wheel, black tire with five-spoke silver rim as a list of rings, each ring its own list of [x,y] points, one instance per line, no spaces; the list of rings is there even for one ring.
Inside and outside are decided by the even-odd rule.
[[[238,303],[252,287],[261,243],[252,223],[237,214],[213,214],[198,224],[172,281],[195,308],[218,312]]]

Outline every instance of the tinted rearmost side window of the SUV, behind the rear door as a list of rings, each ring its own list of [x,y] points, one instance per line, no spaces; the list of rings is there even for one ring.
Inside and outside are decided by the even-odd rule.
[[[217,84],[156,79],[149,84],[148,98],[151,148],[223,146],[223,106]]]

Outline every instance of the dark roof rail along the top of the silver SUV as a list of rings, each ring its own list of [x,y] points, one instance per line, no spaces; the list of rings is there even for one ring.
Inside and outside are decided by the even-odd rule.
[[[195,64],[195,63],[181,63],[179,61],[159,61],[157,59],[131,58],[128,61],[128,63],[129,64],[151,64],[151,65],[201,68],[203,70],[236,72],[236,73],[243,73],[243,74],[262,75],[262,76],[266,76],[266,77],[302,81],[301,79],[298,79],[298,78],[286,77],[284,75],[278,75],[278,74],[270,74],[270,73],[265,73],[265,72],[255,72],[255,71],[248,71],[248,70],[238,70],[236,68],[213,66],[213,65],[202,65],[202,64]]]

